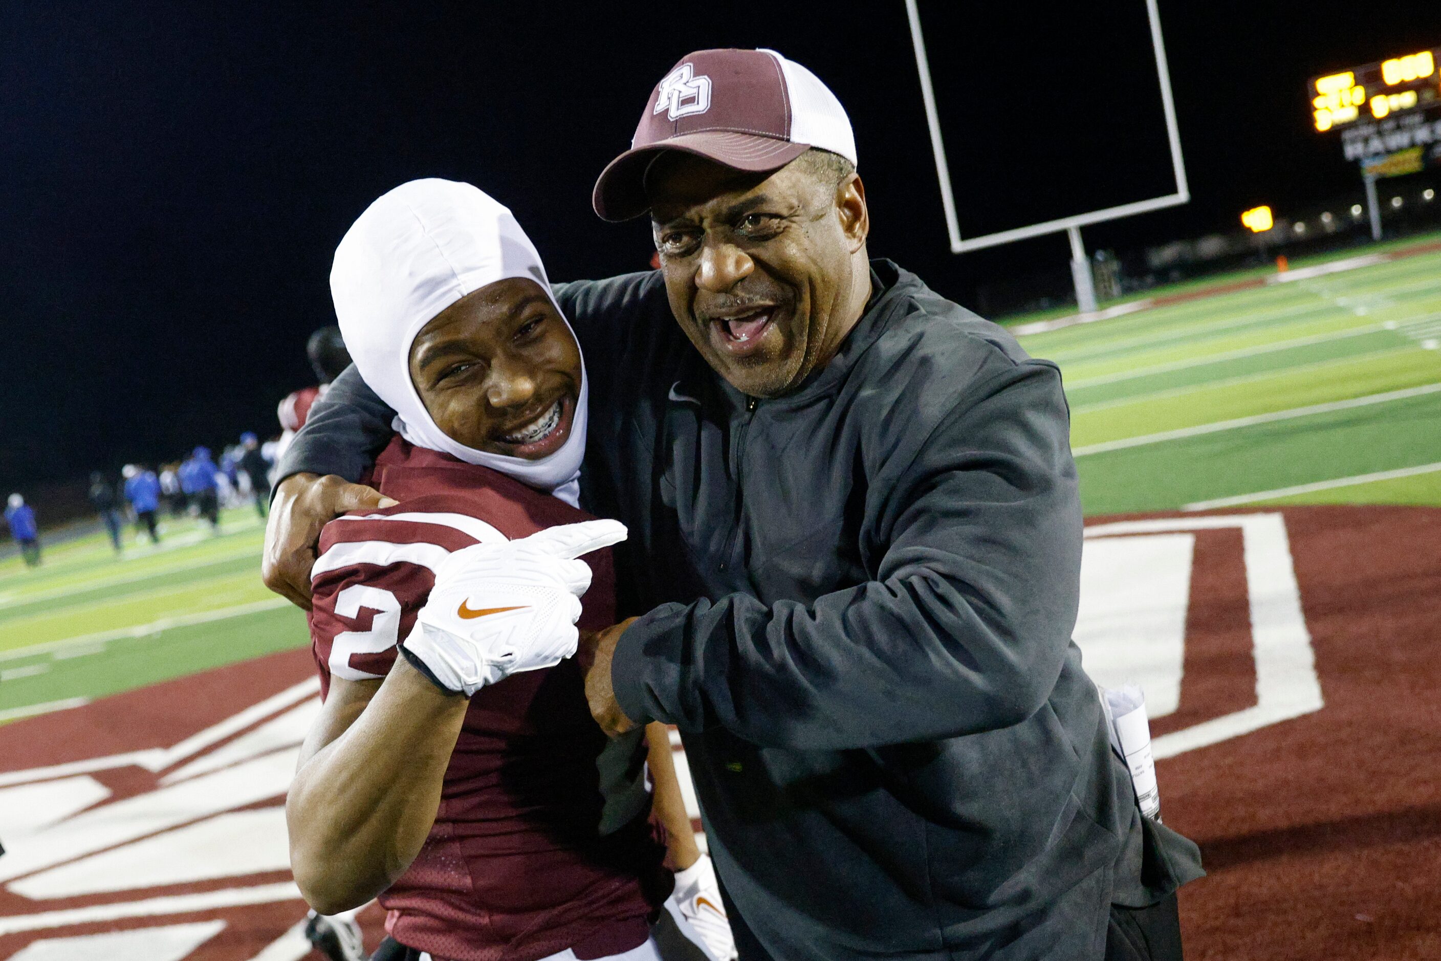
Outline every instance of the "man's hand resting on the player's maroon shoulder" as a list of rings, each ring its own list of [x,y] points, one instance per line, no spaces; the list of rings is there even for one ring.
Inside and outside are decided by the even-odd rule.
[[[375,510],[396,503],[378,490],[334,474],[291,474],[275,488],[271,501],[261,579],[267,588],[308,611],[310,569],[316,566],[320,529],[352,510]]]

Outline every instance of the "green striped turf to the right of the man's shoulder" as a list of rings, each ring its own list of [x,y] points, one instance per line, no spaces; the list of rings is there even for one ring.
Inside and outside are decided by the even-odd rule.
[[[1441,252],[1020,340],[1061,365],[1088,516],[1441,504]]]

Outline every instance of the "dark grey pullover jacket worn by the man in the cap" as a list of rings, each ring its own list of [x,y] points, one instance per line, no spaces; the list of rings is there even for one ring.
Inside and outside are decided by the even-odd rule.
[[[742,945],[777,961],[1101,958],[1199,876],[1141,817],[1071,641],[1081,504],[1055,365],[889,261],[794,393],[722,380],[659,272],[555,288],[615,547],[615,694],[680,728]],[[281,465],[362,471],[352,369]],[[744,958],[759,955],[754,947]]]

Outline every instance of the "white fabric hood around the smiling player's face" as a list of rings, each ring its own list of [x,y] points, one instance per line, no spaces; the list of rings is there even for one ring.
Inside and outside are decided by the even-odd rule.
[[[411,344],[421,328],[467,294],[516,277],[535,281],[555,303],[540,255],[510,210],[468,183],[411,180],[382,195],[346,231],[330,269],[330,294],[356,370],[395,408],[401,437],[576,506],[589,399],[584,357],[571,435],[559,451],[535,461],[452,439],[435,426],[411,382]]]

